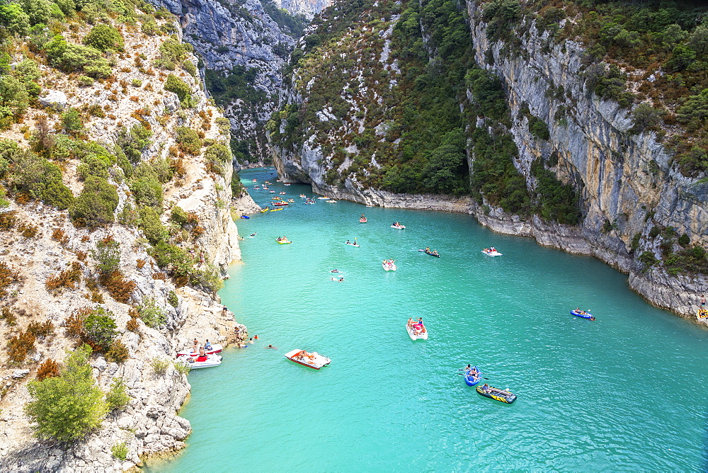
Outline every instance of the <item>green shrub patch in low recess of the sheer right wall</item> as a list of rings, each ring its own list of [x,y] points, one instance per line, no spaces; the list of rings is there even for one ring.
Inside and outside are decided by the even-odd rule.
[[[544,220],[561,224],[578,224],[581,220],[581,211],[578,205],[579,198],[573,186],[559,181],[555,174],[545,169],[539,160],[531,165],[531,172],[538,181],[536,211],[539,215]]]

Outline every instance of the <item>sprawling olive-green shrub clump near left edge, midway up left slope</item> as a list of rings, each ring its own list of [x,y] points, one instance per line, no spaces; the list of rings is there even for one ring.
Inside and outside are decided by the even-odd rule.
[[[8,185],[16,193],[26,193],[59,210],[66,209],[74,200],[72,191],[62,182],[59,166],[32,152],[14,154]]]

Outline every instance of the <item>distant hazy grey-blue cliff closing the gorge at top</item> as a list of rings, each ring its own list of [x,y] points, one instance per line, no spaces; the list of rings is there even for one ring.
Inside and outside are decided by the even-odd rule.
[[[256,72],[252,79],[249,76],[248,87],[258,98],[245,94],[233,96],[226,91],[228,97],[220,105],[231,122],[234,139],[242,142],[244,156],[237,156],[241,161],[236,166],[247,165],[249,161],[262,163],[269,156],[263,125],[278,106],[281,69],[287,64],[302,19],[278,11],[270,0],[155,0],[153,3],[165,6],[180,18],[184,40],[195,47],[206,69],[224,76],[243,74],[243,69],[235,67]],[[327,5],[326,0],[285,0],[278,2],[277,7],[292,15],[312,18]]]

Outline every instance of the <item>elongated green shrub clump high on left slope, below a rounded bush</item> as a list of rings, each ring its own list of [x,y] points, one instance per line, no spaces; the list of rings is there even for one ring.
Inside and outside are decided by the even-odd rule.
[[[74,45],[62,35],[56,35],[45,45],[47,59],[52,66],[64,72],[84,72],[86,76],[105,78],[110,76],[108,62],[95,47]]]

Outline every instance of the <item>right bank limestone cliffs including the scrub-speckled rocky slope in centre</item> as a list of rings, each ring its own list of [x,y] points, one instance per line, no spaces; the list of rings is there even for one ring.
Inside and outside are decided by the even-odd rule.
[[[341,74],[343,79],[336,84],[338,89],[331,94],[330,103],[316,101],[315,94],[321,94],[323,87],[317,68],[323,62],[333,64],[329,61],[337,52],[321,47],[311,56],[316,59],[301,60],[292,76],[292,87],[282,95],[282,111],[270,127],[273,160],[280,176],[286,182],[312,183],[320,193],[370,205],[472,213],[496,231],[531,236],[539,244],[596,256],[629,273],[631,287],[653,304],[696,319],[697,301],[702,292],[708,291],[705,278],[675,277],[664,266],[651,266],[646,260],[651,255],[661,260],[666,251],[680,251],[670,235],[658,237],[666,229],[673,235],[685,234],[692,244],[706,244],[708,185],[683,176],[655,133],[631,130],[634,122],[629,109],[599,98],[590,89],[587,63],[583,62],[586,52],[579,40],[554,40],[537,28],[533,18],[524,20],[524,33],[514,35],[513,44],[489,40],[493,35],[482,19],[481,4],[484,2],[474,0],[465,4],[474,62],[501,79],[510,110],[508,123],[495,126],[513,138],[518,149],[513,165],[529,193],[538,186],[532,171],[534,162],[544,163],[557,179],[576,190],[580,224],[558,224],[538,215],[511,215],[484,195],[478,201],[380,190],[382,181],[376,173],[382,169],[382,159],[378,153],[387,147],[395,149],[399,142],[396,138],[401,135],[392,134],[391,127],[401,125],[392,116],[406,113],[396,111],[390,96],[399,93],[405,98],[407,92],[400,86],[406,74],[411,74],[410,69],[399,67],[401,53],[392,55],[392,32],[394,28],[412,28],[411,18],[417,19],[411,15],[402,25],[404,20],[395,9],[390,16],[379,15],[376,18],[380,20],[375,22],[353,24],[337,36],[336,44],[346,65],[341,72],[333,70],[331,74]],[[324,21],[333,23],[338,14],[327,11]],[[422,18],[420,23],[423,25]],[[428,44],[435,31],[422,29],[423,42]],[[298,47],[308,50],[304,42]],[[434,52],[430,43],[430,57]],[[431,59],[428,67],[437,67],[435,61],[439,60]],[[634,72],[635,88],[641,86],[641,77],[646,75],[645,71]],[[463,114],[479,110],[474,104],[483,99],[468,90],[459,97],[460,110]],[[312,116],[303,119],[306,113]],[[474,116],[467,117],[468,132],[492,129],[479,111],[472,113]],[[530,131],[531,120],[542,121],[548,136],[535,136]],[[290,134],[293,125],[302,137]],[[367,133],[368,139],[363,139]],[[373,146],[372,139],[377,152],[373,156],[369,152],[362,160],[366,143]],[[401,149],[397,152],[399,159],[406,153]],[[471,147],[467,153],[472,170],[478,156]],[[704,323],[705,319],[700,321]]]

